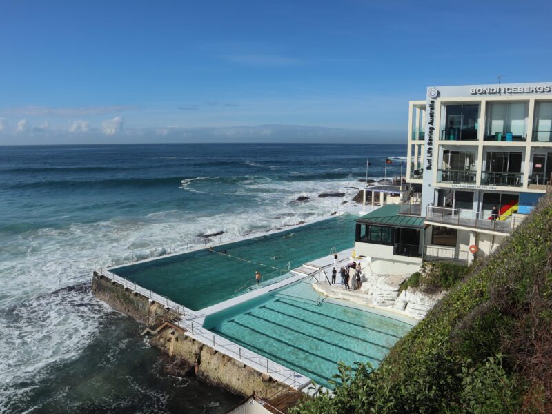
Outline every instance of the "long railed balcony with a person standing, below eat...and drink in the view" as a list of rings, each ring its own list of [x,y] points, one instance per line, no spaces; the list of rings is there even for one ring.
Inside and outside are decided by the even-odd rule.
[[[511,233],[525,217],[496,217],[493,219],[490,213],[477,213],[473,210],[460,210],[456,208],[428,206],[426,210],[426,222],[446,226],[476,228],[498,233]]]

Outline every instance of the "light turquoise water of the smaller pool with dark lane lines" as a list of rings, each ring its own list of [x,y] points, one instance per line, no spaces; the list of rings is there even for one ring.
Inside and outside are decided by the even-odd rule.
[[[339,361],[376,367],[412,328],[392,314],[386,317],[323,299],[308,282],[296,282],[214,313],[204,328],[328,388]]]

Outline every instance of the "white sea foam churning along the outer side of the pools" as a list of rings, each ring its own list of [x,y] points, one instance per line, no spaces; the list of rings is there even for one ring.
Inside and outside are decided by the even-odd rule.
[[[207,177],[183,181],[183,186],[202,179]],[[236,187],[252,201],[233,215],[224,212],[224,206],[221,213],[210,216],[167,210],[139,221],[75,223],[10,238],[0,253],[0,412],[14,392],[13,384],[19,384],[20,393],[30,391],[47,366],[77,357],[97,331],[98,315],[106,312],[106,306],[89,290],[60,288],[90,282],[95,266],[149,257],[155,248],[174,252],[201,246],[205,239],[197,236],[200,233],[224,231],[213,242],[230,242],[329,217],[352,205],[357,189],[351,187],[362,184],[351,179],[283,182],[256,177]],[[346,196],[319,198],[324,191]],[[310,200],[295,202],[299,195]],[[224,198],[220,200],[224,203]],[[348,204],[342,205],[343,201]],[[24,382],[27,388],[21,386]]]

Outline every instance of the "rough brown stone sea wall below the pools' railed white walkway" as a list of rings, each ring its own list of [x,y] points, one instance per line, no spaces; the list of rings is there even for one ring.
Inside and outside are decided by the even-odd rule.
[[[141,324],[145,324],[149,317],[164,313],[161,304],[150,304],[148,297],[133,293],[132,290],[98,273],[92,276],[92,294]],[[201,380],[231,393],[245,397],[255,393],[259,397],[266,397],[277,393],[296,392],[266,373],[260,373],[243,362],[186,336],[181,330],[164,328],[152,335],[150,344],[170,357],[180,358],[193,366],[195,374]]]

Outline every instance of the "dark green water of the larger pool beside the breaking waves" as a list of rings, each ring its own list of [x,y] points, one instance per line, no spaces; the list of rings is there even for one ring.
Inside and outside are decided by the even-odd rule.
[[[267,284],[282,277],[284,272],[275,268],[286,268],[288,262],[295,268],[329,255],[333,247],[338,251],[351,248],[354,242],[355,216],[342,215],[215,248],[226,250],[232,257],[203,249],[114,268],[112,272],[197,311],[246,292],[255,282],[255,270]]]

